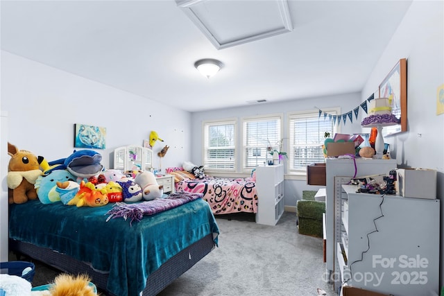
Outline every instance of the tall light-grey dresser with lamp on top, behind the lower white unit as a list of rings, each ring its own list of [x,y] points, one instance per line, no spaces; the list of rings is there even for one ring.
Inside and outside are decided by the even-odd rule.
[[[334,289],[336,290],[337,288],[339,288],[340,284],[339,281],[336,281],[336,272],[338,271],[336,247],[337,243],[342,241],[342,204],[340,200],[335,199],[335,196],[341,194],[341,182],[350,181],[350,177],[355,176],[355,174],[356,177],[361,177],[365,175],[377,175],[382,173],[388,174],[389,171],[396,168],[396,159],[327,158],[325,159],[325,165],[325,234],[327,236],[325,244],[325,267],[327,269],[327,277],[330,279],[330,282],[334,281]]]

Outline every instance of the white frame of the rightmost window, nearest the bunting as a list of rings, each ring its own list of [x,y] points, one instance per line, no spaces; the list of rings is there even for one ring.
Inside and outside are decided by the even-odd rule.
[[[330,107],[330,108],[323,108],[322,110],[323,114],[327,113],[327,114],[331,114],[331,115],[338,115],[341,114],[341,107]],[[287,129],[288,129],[288,135],[289,135],[289,141],[287,141],[287,156],[288,156],[288,164],[287,164],[287,173],[289,173],[290,175],[300,175],[300,176],[305,176],[307,175],[307,167],[303,168],[303,169],[294,169],[292,168],[291,164],[294,162],[293,159],[293,153],[291,153],[291,151],[293,151],[293,146],[292,146],[292,139],[294,137],[294,130],[291,127],[291,121],[293,121],[293,119],[295,118],[318,118],[319,120],[323,120],[323,114],[319,115],[319,110],[318,109],[313,109],[313,110],[303,110],[303,111],[297,111],[297,112],[288,112],[287,113]],[[313,116],[310,116],[313,115]],[[329,119],[325,119],[325,120],[329,120]],[[341,120],[340,118],[338,120]],[[330,137],[333,137],[333,135],[335,133],[340,133],[341,132],[341,124],[338,124],[336,121],[335,123],[332,123],[333,125],[333,130],[332,133],[330,134]]]

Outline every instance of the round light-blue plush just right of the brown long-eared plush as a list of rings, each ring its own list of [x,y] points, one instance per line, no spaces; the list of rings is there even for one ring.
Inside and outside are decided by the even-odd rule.
[[[37,178],[35,182],[35,189],[37,190],[37,196],[42,204],[50,204],[51,202],[60,201],[60,192],[58,188],[58,182],[74,181],[76,177],[69,173],[67,170],[51,171],[48,175],[42,175]]]

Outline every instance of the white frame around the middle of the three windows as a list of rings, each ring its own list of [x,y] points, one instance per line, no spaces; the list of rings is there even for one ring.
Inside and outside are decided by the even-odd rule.
[[[241,166],[239,166],[241,168],[241,173],[249,173],[251,172],[251,170],[253,168],[247,167],[246,166],[246,130],[244,129],[244,125],[247,122],[250,121],[268,121],[268,120],[272,120],[272,119],[277,119],[278,121],[280,121],[280,127],[279,127],[279,132],[280,132],[280,138],[281,140],[284,139],[284,114],[283,113],[274,113],[274,114],[264,114],[264,115],[255,115],[255,116],[245,116],[241,118],[241,130],[240,130],[240,135],[241,135]],[[274,145],[274,143],[271,143],[271,145]],[[264,143],[264,146],[268,146],[268,143]],[[285,146],[284,143],[282,143],[282,150],[285,150]],[[271,155],[270,157],[268,157],[268,159],[271,159]],[[263,164],[257,164],[257,165],[263,165]]]

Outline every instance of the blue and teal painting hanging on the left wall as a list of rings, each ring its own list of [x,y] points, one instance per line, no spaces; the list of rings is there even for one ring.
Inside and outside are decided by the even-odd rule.
[[[106,128],[74,124],[74,147],[105,149]]]

